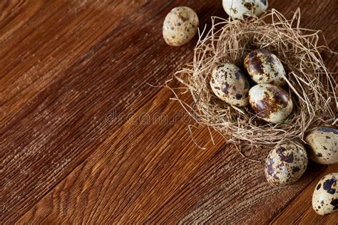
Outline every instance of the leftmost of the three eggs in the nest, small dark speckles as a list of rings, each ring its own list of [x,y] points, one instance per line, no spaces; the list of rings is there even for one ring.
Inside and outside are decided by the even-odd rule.
[[[247,94],[249,81],[237,66],[225,63],[212,70],[210,86],[220,100],[230,105],[245,106],[249,104]]]

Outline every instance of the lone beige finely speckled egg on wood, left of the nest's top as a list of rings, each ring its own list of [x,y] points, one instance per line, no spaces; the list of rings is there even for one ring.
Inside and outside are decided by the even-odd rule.
[[[170,46],[188,43],[198,31],[198,15],[186,6],[172,9],[163,22],[163,38]]]

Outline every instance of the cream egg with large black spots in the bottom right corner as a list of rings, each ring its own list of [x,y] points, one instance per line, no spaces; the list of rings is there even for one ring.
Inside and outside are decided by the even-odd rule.
[[[312,208],[319,215],[338,211],[338,172],[320,179],[312,194]]]

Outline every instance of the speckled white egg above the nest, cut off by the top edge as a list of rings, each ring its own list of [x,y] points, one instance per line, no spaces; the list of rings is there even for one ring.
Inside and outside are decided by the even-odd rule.
[[[267,0],[223,0],[223,8],[227,15],[235,19],[245,16],[259,16],[267,10]]]

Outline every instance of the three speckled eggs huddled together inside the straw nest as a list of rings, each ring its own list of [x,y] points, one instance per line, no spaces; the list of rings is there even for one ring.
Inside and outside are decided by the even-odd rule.
[[[283,122],[291,114],[293,103],[285,85],[285,69],[275,54],[261,49],[251,51],[244,60],[250,82],[239,67],[223,63],[212,70],[210,87],[220,100],[233,106],[250,105],[257,117],[267,122]]]

